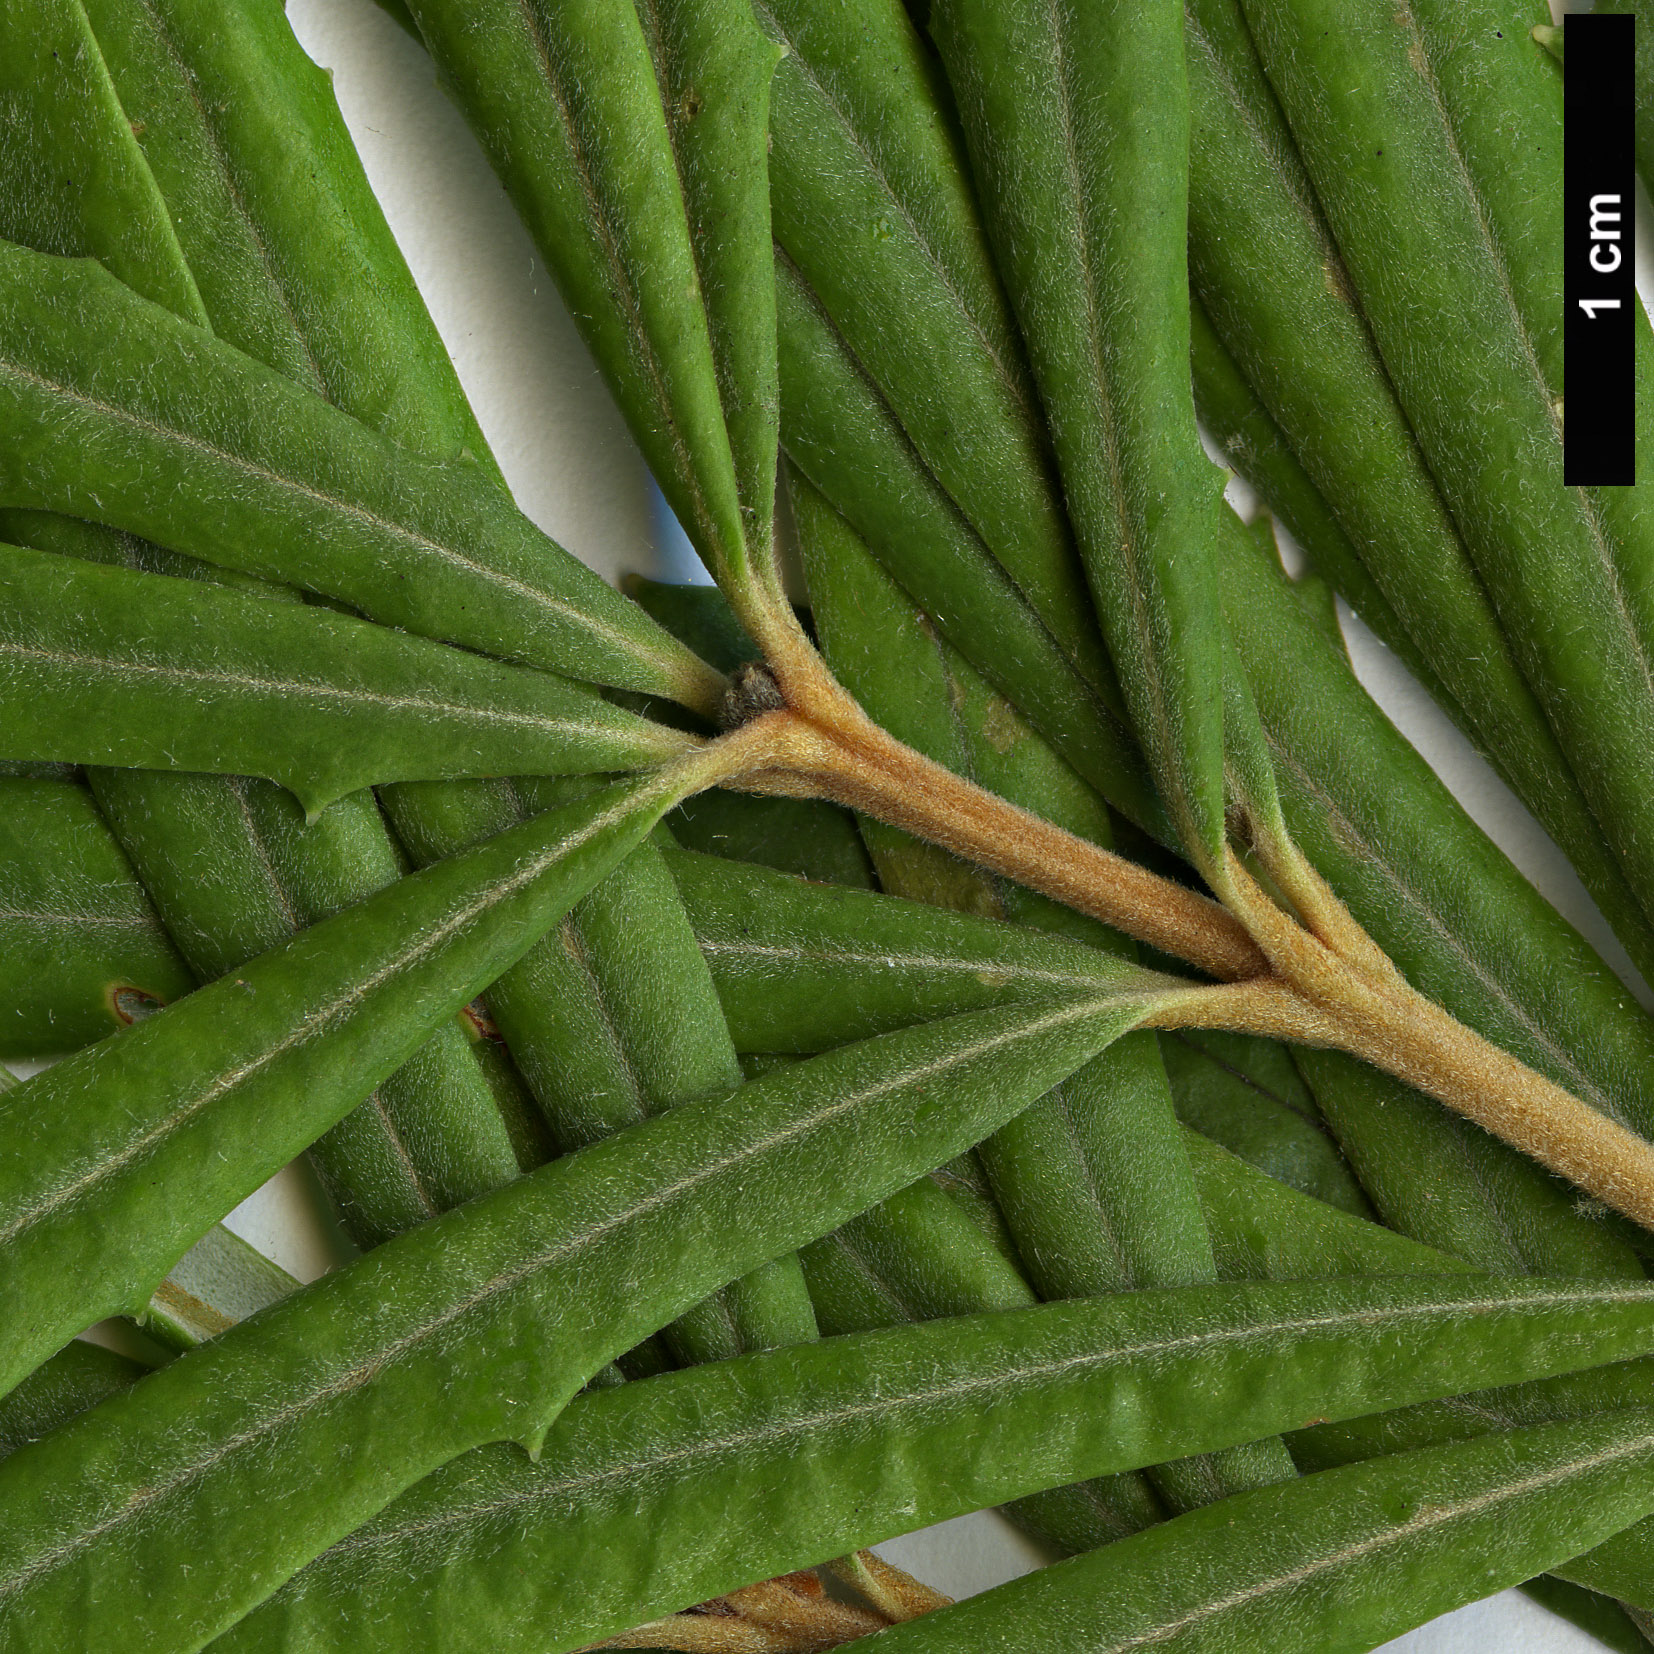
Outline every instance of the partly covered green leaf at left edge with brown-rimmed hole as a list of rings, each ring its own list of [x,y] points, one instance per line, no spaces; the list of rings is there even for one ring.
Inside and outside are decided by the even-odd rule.
[[[0,1057],[76,1050],[192,986],[86,787],[0,777]]]

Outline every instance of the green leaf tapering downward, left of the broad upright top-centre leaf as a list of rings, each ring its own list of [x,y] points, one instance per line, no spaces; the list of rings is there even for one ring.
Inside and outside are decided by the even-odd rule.
[[[895,0],[764,0],[758,13],[787,48],[769,162],[782,268],[810,289],[1067,668],[1118,705],[935,56]]]

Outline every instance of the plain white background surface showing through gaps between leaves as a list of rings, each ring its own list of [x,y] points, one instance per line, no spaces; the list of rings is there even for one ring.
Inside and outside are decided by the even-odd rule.
[[[609,577],[640,571],[703,579],[675,524],[662,519],[643,461],[556,288],[465,124],[437,89],[428,60],[372,0],[288,0],[288,15],[311,56],[334,74],[372,185],[521,508]],[[1642,258],[1639,275],[1646,275]],[[1532,817],[1348,612],[1345,627],[1356,670],[1391,718],[1515,863],[1629,974],[1573,872]],[[299,1168],[283,1173],[230,1221],[304,1279],[342,1257]],[[883,1550],[951,1594],[986,1589],[1040,1560],[987,1512]],[[1583,1654],[1599,1644],[1505,1593],[1389,1649]]]

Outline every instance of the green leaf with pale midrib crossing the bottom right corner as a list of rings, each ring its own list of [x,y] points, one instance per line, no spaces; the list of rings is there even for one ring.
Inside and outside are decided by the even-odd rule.
[[[1646,1515],[1651,1467],[1654,1414],[1637,1409],[1328,1470],[926,1614],[887,1646],[1356,1654]]]

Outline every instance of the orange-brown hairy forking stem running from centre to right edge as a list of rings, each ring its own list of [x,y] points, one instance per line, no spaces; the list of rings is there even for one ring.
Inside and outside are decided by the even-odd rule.
[[[1260,844],[1288,913],[1229,855],[1227,906],[963,781],[880,729],[791,633],[738,675],[731,734],[675,769],[700,786],[825,797],[1186,959],[1191,982],[1145,1027],[1212,1027],[1371,1062],[1654,1229],[1654,1145],[1518,1062],[1413,989],[1290,842]]]

